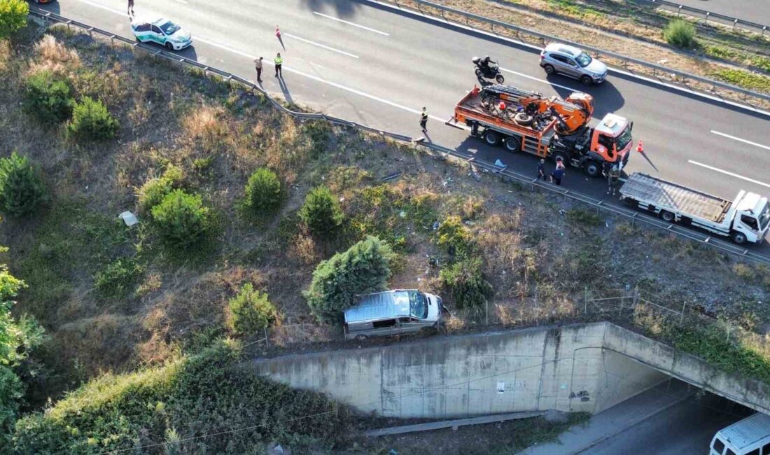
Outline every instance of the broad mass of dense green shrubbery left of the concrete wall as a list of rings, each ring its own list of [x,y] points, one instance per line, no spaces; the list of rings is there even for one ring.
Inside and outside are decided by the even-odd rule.
[[[270,440],[329,453],[346,442],[349,407],[246,372],[244,360],[220,342],[164,366],[107,374],[19,420],[9,453],[263,453]]]

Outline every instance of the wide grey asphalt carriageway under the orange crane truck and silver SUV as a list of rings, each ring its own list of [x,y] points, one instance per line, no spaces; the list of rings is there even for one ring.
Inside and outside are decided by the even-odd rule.
[[[122,0],[65,0],[53,12],[132,36]],[[427,140],[504,162],[534,176],[536,160],[469,138],[444,125],[454,103],[475,81],[474,55],[492,55],[504,67],[506,83],[566,96],[594,95],[594,122],[617,112],[634,121],[634,152],[627,172],[648,172],[732,199],[739,189],[770,193],[770,114],[644,82],[611,75],[585,88],[562,76],[546,76],[537,54],[521,45],[448,25],[414,18],[387,6],[347,0],[137,0],[139,17],[166,16],[192,32],[194,45],[180,52],[226,71],[256,79],[252,60],[285,58],[283,83],[266,65],[264,88],[330,115],[392,132],[421,135],[418,112],[430,113]],[[282,40],[275,35],[276,25]],[[604,183],[567,173],[565,186],[603,196]],[[763,251],[770,252],[766,244]]]

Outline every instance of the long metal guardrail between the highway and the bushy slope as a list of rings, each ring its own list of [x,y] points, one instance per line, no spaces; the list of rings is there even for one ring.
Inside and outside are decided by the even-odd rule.
[[[373,134],[382,135],[383,137],[388,137],[390,139],[394,139],[400,142],[407,142],[410,144],[414,143],[413,138],[407,135],[400,135],[394,132],[388,132],[382,129],[372,128],[367,125],[361,125],[360,123],[357,123],[357,122],[352,122],[346,119],[339,119],[337,117],[333,117],[323,113],[296,112],[291,109],[287,109],[283,104],[276,101],[276,99],[273,99],[273,97],[270,96],[265,89],[263,89],[259,85],[256,85],[254,82],[251,82],[247,79],[243,79],[242,77],[234,75],[233,73],[230,73],[230,72],[226,72],[222,69],[213,68],[209,65],[204,65],[203,63],[196,62],[195,60],[188,59],[180,55],[172,54],[171,52],[167,52],[164,49],[157,49],[151,45],[146,45],[140,42],[136,42],[135,40],[132,40],[123,36],[115,35],[112,32],[107,32],[100,28],[95,28],[90,25],[83,24],[82,22],[76,22],[76,21],[73,21],[72,19],[65,18],[61,15],[57,15],[52,12],[46,12],[45,10],[42,10],[39,8],[30,7],[30,14],[38,16],[39,18],[42,18],[46,22],[49,22],[49,21],[59,22],[61,24],[67,25],[68,27],[75,26],[78,28],[82,28],[86,32],[89,32],[89,34],[97,33],[99,35],[103,35],[107,38],[110,38],[113,42],[117,40],[126,45],[130,45],[136,49],[142,49],[151,55],[155,55],[156,57],[161,57],[163,59],[167,59],[172,62],[190,65],[193,68],[196,68],[205,72],[206,74],[216,75],[224,79],[228,83],[231,83],[231,82],[239,83],[240,85],[245,86],[247,89],[250,89],[252,91],[256,90],[257,92],[260,92],[262,95],[264,95],[264,97],[267,100],[269,100],[269,102],[272,103],[272,105],[276,109],[279,109],[280,111],[286,114],[292,115],[297,119],[326,120],[327,122],[331,122],[335,125],[343,125],[343,126],[348,126],[352,128],[357,128],[363,131],[371,132]],[[762,254],[756,253],[749,249],[741,248],[740,246],[736,246],[732,243],[725,242],[724,240],[717,239],[715,237],[708,236],[706,234],[701,234],[695,231],[691,231],[690,229],[686,229],[683,226],[677,226],[674,224],[663,222],[661,221],[661,219],[645,215],[644,213],[637,212],[633,209],[628,209],[623,206],[616,206],[614,204],[609,204],[602,199],[596,199],[591,196],[581,194],[579,192],[574,192],[571,189],[563,189],[561,187],[547,185],[538,179],[532,179],[531,176],[525,176],[524,174],[521,174],[519,172],[514,172],[511,169],[507,169],[507,167],[501,168],[500,166],[495,166],[493,163],[476,159],[475,156],[472,156],[464,152],[460,152],[454,149],[449,149],[443,146],[438,146],[430,142],[420,142],[419,145],[432,152],[440,153],[440,155],[443,158],[446,158],[447,156],[452,156],[455,159],[460,159],[461,161],[467,162],[469,166],[472,166],[472,169],[474,169],[474,172],[475,172],[475,169],[481,169],[482,172],[490,173],[491,175],[497,176],[500,179],[508,179],[509,181],[512,181],[512,182],[518,182],[522,186],[529,186],[529,188],[532,191],[534,191],[534,189],[537,188],[548,192],[554,192],[561,196],[564,196],[565,199],[568,198],[577,202],[583,202],[588,206],[594,207],[594,209],[605,210],[605,211],[614,213],[618,216],[623,216],[624,218],[629,219],[631,221],[631,224],[634,224],[635,222],[641,222],[648,226],[653,226],[655,228],[661,229],[666,233],[668,233],[669,235],[680,236],[685,239],[691,239],[691,240],[694,240],[695,242],[713,246],[717,249],[721,249],[725,253],[731,253],[743,259],[751,260],[755,263],[763,263],[763,264],[770,265],[770,256],[763,256]]]

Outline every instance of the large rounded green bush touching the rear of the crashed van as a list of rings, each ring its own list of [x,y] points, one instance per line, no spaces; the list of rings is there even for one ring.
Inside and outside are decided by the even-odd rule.
[[[310,311],[320,321],[339,321],[341,312],[353,305],[355,296],[386,288],[392,258],[393,251],[387,243],[368,236],[321,262],[313,271],[310,289],[304,293]]]

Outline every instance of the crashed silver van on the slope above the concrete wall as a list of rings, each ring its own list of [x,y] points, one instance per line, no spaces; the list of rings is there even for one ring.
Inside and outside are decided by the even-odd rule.
[[[358,296],[345,310],[345,340],[405,335],[437,329],[446,311],[441,298],[417,289],[394,289]]]

